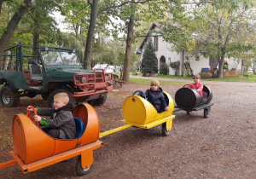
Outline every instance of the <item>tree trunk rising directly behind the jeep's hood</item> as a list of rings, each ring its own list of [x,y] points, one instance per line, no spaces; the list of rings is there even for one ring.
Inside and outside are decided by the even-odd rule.
[[[87,70],[90,70],[90,58],[91,58],[92,44],[94,41],[94,32],[96,27],[97,6],[98,6],[98,0],[94,0],[93,3],[90,5],[91,7],[90,25],[88,29],[86,46],[84,51],[84,66]]]

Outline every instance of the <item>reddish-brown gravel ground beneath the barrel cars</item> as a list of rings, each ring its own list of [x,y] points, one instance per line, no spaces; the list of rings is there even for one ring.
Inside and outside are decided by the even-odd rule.
[[[203,82],[203,81],[202,81]],[[204,83],[204,82],[203,82]],[[207,84],[213,94],[212,111],[191,115],[173,114],[170,136],[161,135],[161,126],[149,130],[128,128],[100,140],[94,150],[94,167],[86,176],[78,176],[76,158],[23,174],[17,165],[0,170],[1,178],[255,178],[256,122],[255,84]],[[122,126],[122,105],[135,90],[149,85],[125,84],[108,94],[102,107],[95,107],[101,132]],[[177,85],[161,85],[174,99]],[[22,98],[20,107],[0,109],[0,163],[11,159],[13,150],[11,123],[26,107],[45,107],[40,97]],[[132,112],[131,112],[132,113]]]

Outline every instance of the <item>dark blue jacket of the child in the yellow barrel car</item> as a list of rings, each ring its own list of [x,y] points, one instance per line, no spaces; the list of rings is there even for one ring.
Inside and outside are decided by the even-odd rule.
[[[145,95],[152,105],[167,107],[165,95],[160,87],[156,91],[151,89],[146,90]]]

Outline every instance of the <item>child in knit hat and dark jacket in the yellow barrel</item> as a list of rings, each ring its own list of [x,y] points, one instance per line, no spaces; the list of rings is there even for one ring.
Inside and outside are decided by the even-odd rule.
[[[164,107],[165,110],[168,112],[169,107],[166,104],[165,95],[163,90],[159,87],[159,81],[153,79],[150,83],[150,89],[148,89],[145,93],[146,98],[148,101],[154,106],[157,113],[160,113],[160,107]]]

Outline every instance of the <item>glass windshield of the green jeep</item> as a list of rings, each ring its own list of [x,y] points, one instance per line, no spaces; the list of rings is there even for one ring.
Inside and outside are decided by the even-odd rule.
[[[45,66],[80,66],[78,56],[67,51],[41,51]]]

